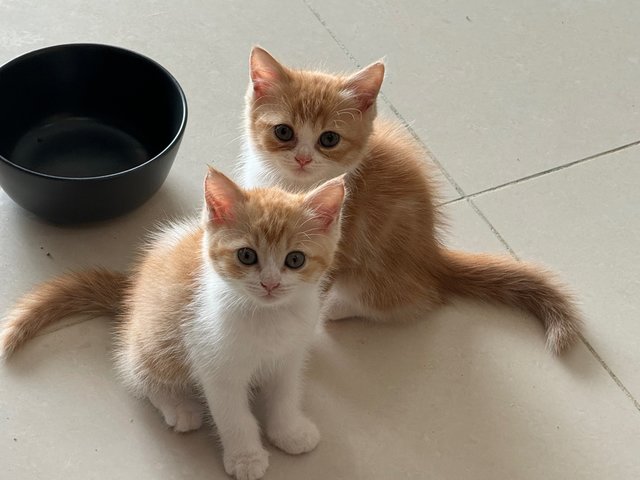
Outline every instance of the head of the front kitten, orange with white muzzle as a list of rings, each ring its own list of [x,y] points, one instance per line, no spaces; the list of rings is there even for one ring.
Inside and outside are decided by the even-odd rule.
[[[242,190],[210,168],[205,179],[208,258],[252,301],[283,305],[316,286],[340,238],[342,177],[307,194]]]

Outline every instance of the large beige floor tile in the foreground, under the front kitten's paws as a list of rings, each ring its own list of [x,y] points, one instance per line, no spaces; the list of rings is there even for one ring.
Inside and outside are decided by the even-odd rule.
[[[107,325],[37,337],[2,366],[5,473],[224,478],[206,430],[169,431],[120,386]],[[323,440],[300,457],[271,448],[267,480],[640,474],[640,417],[627,399],[584,347],[553,358],[541,328],[512,312],[458,303],[412,325],[331,324],[307,377],[305,409]]]

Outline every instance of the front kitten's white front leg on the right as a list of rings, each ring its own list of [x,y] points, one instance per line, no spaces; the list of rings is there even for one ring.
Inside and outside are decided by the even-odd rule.
[[[309,452],[320,441],[318,428],[301,410],[303,358],[302,352],[285,357],[262,386],[267,436],[292,455]]]

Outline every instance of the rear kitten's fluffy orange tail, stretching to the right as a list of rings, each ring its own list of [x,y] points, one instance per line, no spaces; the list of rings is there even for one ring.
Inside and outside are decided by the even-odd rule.
[[[446,250],[441,277],[443,293],[499,302],[538,317],[547,348],[560,354],[580,335],[582,320],[572,294],[553,275],[509,257]]]

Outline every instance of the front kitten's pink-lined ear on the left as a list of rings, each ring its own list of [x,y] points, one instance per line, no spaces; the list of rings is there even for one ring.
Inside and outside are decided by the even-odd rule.
[[[236,206],[243,200],[244,194],[235,183],[209,167],[204,180],[204,201],[211,222],[223,225],[233,220]]]

